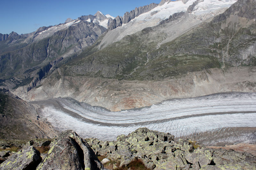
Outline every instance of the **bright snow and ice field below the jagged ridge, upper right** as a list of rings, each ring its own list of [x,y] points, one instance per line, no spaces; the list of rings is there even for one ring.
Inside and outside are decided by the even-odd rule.
[[[197,2],[194,4],[194,2]],[[223,9],[226,10],[230,5],[234,4],[235,0],[228,1],[215,1],[215,0],[204,0],[204,1],[161,1],[161,3],[152,8],[151,10],[133,17],[129,23],[120,24],[116,29],[108,32],[105,38],[102,40],[99,48],[105,48],[109,44],[121,40],[126,35],[131,35],[138,31],[143,30],[147,27],[158,25],[162,20],[169,18],[177,12],[191,13],[194,19],[202,22],[207,18],[211,18],[213,15],[219,14]],[[194,7],[192,8],[194,4]],[[124,18],[124,17],[123,17]],[[192,25],[190,25],[192,24]],[[197,22],[198,24],[198,22]],[[188,26],[194,26],[191,22]],[[178,32],[178,31],[177,31]]]

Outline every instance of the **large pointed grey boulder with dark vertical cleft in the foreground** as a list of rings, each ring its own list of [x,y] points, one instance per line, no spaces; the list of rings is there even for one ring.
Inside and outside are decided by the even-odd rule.
[[[89,144],[74,131],[63,131],[56,141],[57,142],[55,142],[48,151],[44,160],[37,166],[37,170],[104,169]]]

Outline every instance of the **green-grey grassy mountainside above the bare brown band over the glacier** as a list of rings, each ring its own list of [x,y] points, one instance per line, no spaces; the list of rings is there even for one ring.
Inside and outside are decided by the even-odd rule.
[[[246,3],[254,5],[254,2]],[[175,24],[188,24],[194,16],[175,13],[175,17],[170,17],[172,21],[165,20],[159,26],[128,35],[92,55],[81,54],[83,57],[80,60],[71,61],[63,67],[67,75],[152,80],[208,68],[222,68],[225,63],[231,66],[254,65],[255,22],[234,15],[235,12],[241,13],[240,8],[230,16],[230,11],[241,4],[244,5],[244,2],[236,3],[224,13],[227,18],[225,21],[215,21],[223,16],[221,14],[211,22],[204,22],[191,30],[188,28],[183,35],[163,43],[168,37],[168,30],[173,30]],[[255,17],[252,12],[251,15]],[[240,39],[239,42],[237,39]],[[241,52],[244,56],[240,55]],[[241,58],[244,58],[243,61]]]

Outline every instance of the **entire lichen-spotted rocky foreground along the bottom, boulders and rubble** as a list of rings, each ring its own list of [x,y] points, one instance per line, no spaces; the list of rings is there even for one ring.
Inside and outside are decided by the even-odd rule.
[[[2,140],[0,170],[256,169],[255,156],[250,153],[204,148],[196,141],[173,138],[169,133],[140,128],[116,141],[83,139],[72,130],[52,140]],[[21,149],[15,152],[13,147]]]

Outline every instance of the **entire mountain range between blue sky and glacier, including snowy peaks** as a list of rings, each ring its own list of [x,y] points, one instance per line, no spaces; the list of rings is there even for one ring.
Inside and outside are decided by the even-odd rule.
[[[27,101],[71,97],[112,111],[256,91],[255,0],[162,0],[116,18],[68,18],[0,34],[0,87]]]

